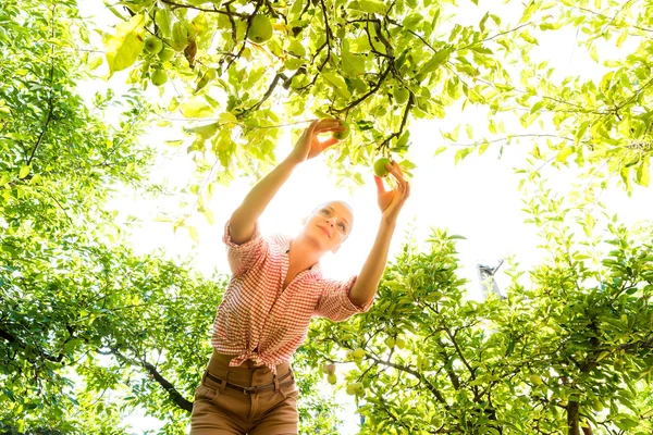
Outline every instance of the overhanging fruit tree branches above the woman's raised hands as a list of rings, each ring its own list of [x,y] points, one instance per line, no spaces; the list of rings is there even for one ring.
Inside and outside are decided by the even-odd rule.
[[[535,0],[478,9],[431,0],[122,5],[110,8],[120,24],[104,35],[109,75],[126,70],[128,83],[147,88],[152,74],[164,71],[173,82],[161,87],[157,112],[190,124],[184,128],[193,137],[188,152],[205,177],[196,188],[199,212],[213,183],[269,167],[281,130],[301,126],[305,116],[352,122],[353,137],[330,164],[338,183],[362,184],[379,154],[398,157],[409,173],[415,164],[404,157],[415,146],[411,123],[460,105],[483,108],[488,120],[444,133],[444,146],[434,151],[459,147],[456,162],[491,145],[501,145],[501,156],[504,145],[517,142],[532,148],[541,164],[562,166],[575,157],[594,176],[620,175],[628,190],[632,182],[649,183],[653,23],[645,1]],[[469,23],[470,13],[478,23]],[[249,35],[262,17],[273,32],[257,42]],[[601,80],[554,80],[555,66],[532,55],[539,40],[563,32],[580,35],[578,51],[587,49],[591,67],[606,71]],[[144,50],[146,36],[159,38],[169,54]],[[612,41],[618,58],[605,59]],[[510,125],[517,120],[522,129]],[[460,129],[476,140],[457,142]]]

